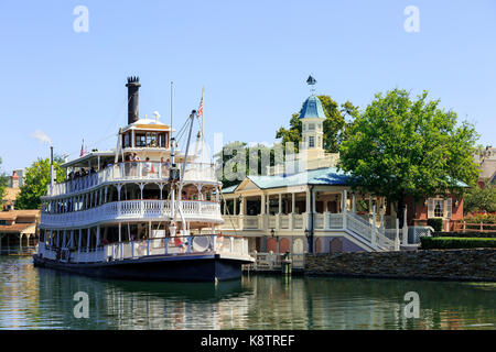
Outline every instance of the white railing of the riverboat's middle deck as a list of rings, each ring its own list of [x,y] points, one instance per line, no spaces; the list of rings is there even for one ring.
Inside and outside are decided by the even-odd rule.
[[[176,202],[177,204],[177,202]],[[179,202],[185,220],[222,222],[220,206],[203,200],[181,200]],[[108,202],[94,209],[66,213],[41,215],[41,227],[77,228],[112,220],[172,218],[170,200],[121,200]]]

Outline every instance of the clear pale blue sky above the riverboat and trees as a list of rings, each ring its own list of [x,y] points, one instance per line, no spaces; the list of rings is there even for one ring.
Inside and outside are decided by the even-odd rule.
[[[76,6],[89,31],[76,33]],[[407,33],[407,6],[420,32]],[[496,1],[9,1],[0,2],[0,166],[116,144],[127,122],[126,77],[141,79],[140,114],[174,120],[205,86],[206,139],[274,141],[316,92],[360,108],[396,87],[427,89],[495,145]]]

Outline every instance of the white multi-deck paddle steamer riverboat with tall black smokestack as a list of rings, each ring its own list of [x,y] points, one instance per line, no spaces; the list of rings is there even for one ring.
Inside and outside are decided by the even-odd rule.
[[[140,119],[139,78],[130,77],[128,124],[115,151],[93,151],[62,164],[64,183],[42,197],[36,266],[99,277],[220,280],[252,263],[248,241],[222,235],[222,184],[198,156],[193,111],[177,148],[171,125]],[[203,101],[202,101],[203,103]],[[204,145],[201,144],[201,154]]]

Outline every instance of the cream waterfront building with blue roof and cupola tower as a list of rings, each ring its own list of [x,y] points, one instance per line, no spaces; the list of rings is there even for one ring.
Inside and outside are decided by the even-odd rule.
[[[315,82],[313,77],[309,81]],[[267,175],[246,176],[222,191],[222,231],[247,237],[251,251],[298,255],[417,248],[419,235],[430,233],[428,218],[450,223],[453,215],[463,213],[463,201],[454,196],[416,205],[409,200],[408,222],[397,229],[395,205],[385,197],[354,193],[351,175],[336,167],[338,154],[324,151],[326,116],[317,96],[303,102],[299,119],[303,145],[293,161],[269,167]]]

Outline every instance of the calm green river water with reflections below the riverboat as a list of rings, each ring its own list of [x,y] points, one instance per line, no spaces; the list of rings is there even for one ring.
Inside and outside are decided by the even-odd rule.
[[[89,318],[74,316],[78,292],[88,295]],[[409,292],[419,295],[419,318],[405,315]],[[36,268],[29,256],[0,256],[0,329],[496,329],[495,298],[495,283],[101,280]]]

